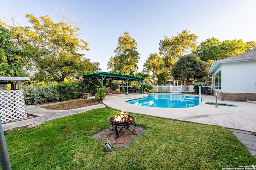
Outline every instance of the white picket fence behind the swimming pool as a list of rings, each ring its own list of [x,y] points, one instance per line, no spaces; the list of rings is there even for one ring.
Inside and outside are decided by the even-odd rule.
[[[153,86],[154,92],[195,92],[193,85],[180,85],[180,86],[173,86],[173,85],[161,85],[161,86]],[[208,86],[206,88],[211,88]]]

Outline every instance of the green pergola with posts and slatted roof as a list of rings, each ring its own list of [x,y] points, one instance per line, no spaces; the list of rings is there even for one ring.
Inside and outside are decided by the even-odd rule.
[[[103,84],[104,80],[110,81],[110,87],[111,87],[111,82],[113,80],[123,80],[126,83],[126,94],[128,94],[128,86],[130,82],[138,81],[143,89],[143,80],[144,80],[144,78],[142,77],[113,73],[113,72],[94,72],[90,74],[84,74],[83,78],[84,78],[84,93],[86,93],[85,86],[89,83],[91,79],[94,79],[94,78],[98,79],[102,88],[104,87],[104,84]]]

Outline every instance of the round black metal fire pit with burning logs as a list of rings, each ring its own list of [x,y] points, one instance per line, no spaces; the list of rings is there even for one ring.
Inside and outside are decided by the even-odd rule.
[[[131,133],[134,133],[134,129],[136,127],[136,118],[131,116],[131,115],[127,115],[127,114],[124,114],[123,111],[121,114],[117,114],[117,115],[114,115],[114,116],[110,116],[108,117],[108,121],[109,123],[112,125],[112,130],[114,129],[114,125],[115,125],[115,130],[116,130],[116,137],[115,139],[118,137],[120,131],[123,129],[123,128],[126,128],[128,129]],[[135,126],[133,128],[133,132],[129,129],[129,125],[132,125],[133,123],[135,123]],[[120,126],[121,129],[117,130],[117,126]]]

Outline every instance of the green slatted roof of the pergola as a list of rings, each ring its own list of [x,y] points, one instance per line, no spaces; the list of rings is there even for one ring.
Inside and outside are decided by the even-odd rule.
[[[113,79],[113,80],[144,80],[142,77],[127,75],[127,74],[119,74],[113,72],[94,72],[90,74],[84,74],[83,78],[99,78],[99,79]]]

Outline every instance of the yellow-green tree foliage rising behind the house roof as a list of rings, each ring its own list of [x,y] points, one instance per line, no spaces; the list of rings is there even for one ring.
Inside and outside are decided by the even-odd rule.
[[[242,39],[220,41],[216,38],[206,39],[198,46],[195,53],[202,61],[220,60],[233,55],[245,53],[255,49],[254,41],[244,43]]]

